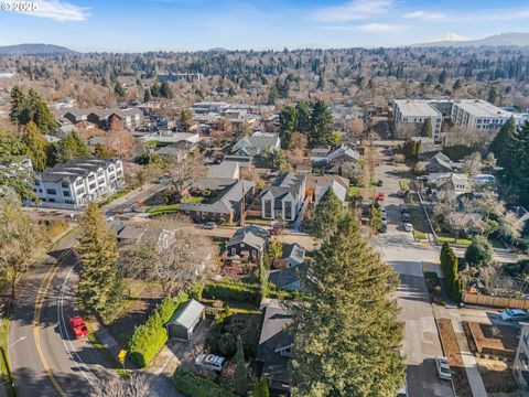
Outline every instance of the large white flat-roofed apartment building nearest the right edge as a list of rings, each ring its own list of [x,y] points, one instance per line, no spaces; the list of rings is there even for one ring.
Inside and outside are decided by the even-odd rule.
[[[510,117],[517,126],[529,119],[529,115],[507,111],[482,99],[462,99],[452,105],[452,122],[476,131],[496,132]]]

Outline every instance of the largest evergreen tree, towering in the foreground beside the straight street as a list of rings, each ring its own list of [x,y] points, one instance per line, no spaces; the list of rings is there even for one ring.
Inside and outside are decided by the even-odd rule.
[[[306,294],[290,307],[292,396],[395,396],[404,383],[399,280],[347,212],[300,273]],[[313,297],[313,298],[310,298]]]

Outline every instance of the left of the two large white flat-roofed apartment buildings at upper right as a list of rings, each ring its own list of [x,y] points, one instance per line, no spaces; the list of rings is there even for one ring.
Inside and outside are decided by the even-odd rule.
[[[433,139],[441,137],[443,114],[430,100],[397,99],[393,107],[393,122],[397,138],[420,136],[424,121],[432,121]]]

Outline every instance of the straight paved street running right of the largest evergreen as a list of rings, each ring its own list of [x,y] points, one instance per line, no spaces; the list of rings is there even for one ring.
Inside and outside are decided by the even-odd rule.
[[[388,159],[389,153],[386,153],[385,160]],[[422,273],[424,261],[429,267],[439,267],[434,262],[439,251],[430,245],[414,243],[412,234],[403,230],[400,221],[403,202],[396,196],[400,186],[393,171],[395,168],[385,161],[377,170],[377,178],[384,181],[379,191],[386,194],[388,233],[374,237],[371,243],[401,278],[397,298],[401,308],[399,316],[404,322],[402,353],[406,355],[408,393],[411,397],[453,396],[451,383],[436,376],[434,357],[442,355],[442,348]]]

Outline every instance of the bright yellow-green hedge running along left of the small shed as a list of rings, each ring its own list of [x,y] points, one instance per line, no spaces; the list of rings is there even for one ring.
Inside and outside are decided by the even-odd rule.
[[[140,367],[147,366],[168,342],[165,323],[174,311],[188,300],[186,293],[165,298],[143,324],[137,325],[127,341],[130,361]]]

